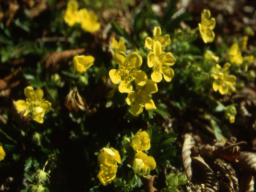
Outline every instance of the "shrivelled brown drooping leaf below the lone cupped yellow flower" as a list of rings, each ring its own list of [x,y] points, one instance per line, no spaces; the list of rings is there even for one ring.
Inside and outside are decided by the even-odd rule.
[[[74,114],[78,112],[79,108],[83,111],[88,111],[89,109],[85,98],[80,96],[76,87],[66,96],[65,106]]]

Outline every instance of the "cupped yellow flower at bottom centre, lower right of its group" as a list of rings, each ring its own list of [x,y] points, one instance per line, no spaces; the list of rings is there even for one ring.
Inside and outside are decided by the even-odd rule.
[[[153,170],[156,168],[157,164],[152,156],[147,156],[146,153],[139,152],[135,154],[134,159],[134,171],[138,174],[149,174],[150,170]]]

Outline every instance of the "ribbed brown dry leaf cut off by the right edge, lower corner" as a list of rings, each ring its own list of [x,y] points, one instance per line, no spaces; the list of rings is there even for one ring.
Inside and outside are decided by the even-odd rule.
[[[247,173],[256,174],[256,153],[241,152],[239,163],[236,164],[239,168],[247,171]]]

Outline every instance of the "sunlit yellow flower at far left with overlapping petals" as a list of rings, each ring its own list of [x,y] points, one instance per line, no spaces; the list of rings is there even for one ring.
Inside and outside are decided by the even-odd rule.
[[[29,115],[32,120],[36,120],[39,123],[44,122],[44,115],[48,112],[51,107],[49,101],[43,99],[44,92],[41,88],[37,88],[34,91],[33,87],[27,86],[24,89],[24,94],[27,97],[26,100],[18,100],[16,102],[16,108],[18,111],[26,109],[24,116]]]

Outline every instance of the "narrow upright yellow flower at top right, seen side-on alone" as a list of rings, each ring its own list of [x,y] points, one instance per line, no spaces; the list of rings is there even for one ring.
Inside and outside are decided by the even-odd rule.
[[[211,12],[204,9],[201,13],[201,23],[198,24],[201,37],[205,43],[210,43],[215,38],[213,29],[215,27],[215,19],[210,18]]]

